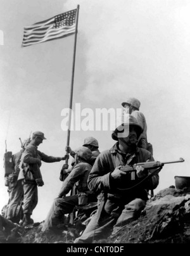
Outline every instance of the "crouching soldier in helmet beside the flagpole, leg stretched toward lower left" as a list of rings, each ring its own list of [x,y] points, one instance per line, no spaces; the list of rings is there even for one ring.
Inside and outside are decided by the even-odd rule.
[[[91,157],[91,150],[84,146],[75,150],[75,166],[65,181],[63,181],[59,198],[54,200],[42,231],[49,229],[56,231],[58,225],[63,224],[65,214],[72,213],[77,205],[87,205],[89,202],[92,202],[93,193],[89,191],[87,186],[89,172],[92,169],[92,166],[88,163]],[[77,187],[77,195],[66,196],[74,184]]]

